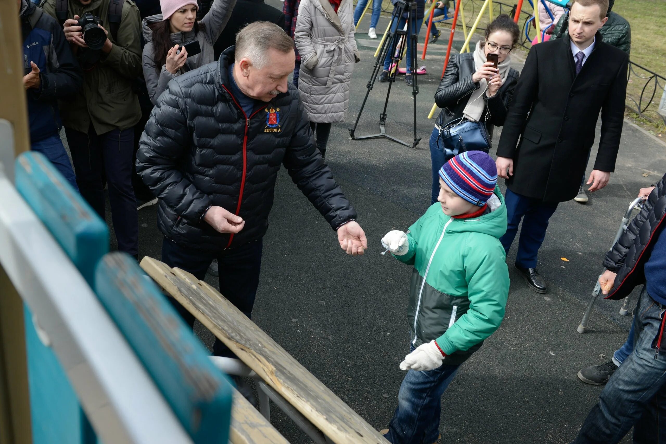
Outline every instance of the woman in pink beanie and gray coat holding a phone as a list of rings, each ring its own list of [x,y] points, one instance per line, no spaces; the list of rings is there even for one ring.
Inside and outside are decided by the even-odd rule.
[[[236,0],[214,0],[196,21],[196,0],[161,0],[162,13],[143,19],[143,77],[153,105],[174,77],[214,61],[213,45],[222,33]],[[201,52],[188,55],[186,43],[198,41]]]

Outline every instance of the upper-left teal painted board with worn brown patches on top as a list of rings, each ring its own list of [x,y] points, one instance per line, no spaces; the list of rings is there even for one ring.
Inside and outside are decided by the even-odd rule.
[[[16,189],[93,286],[95,266],[109,252],[109,228],[39,152],[16,159]]]

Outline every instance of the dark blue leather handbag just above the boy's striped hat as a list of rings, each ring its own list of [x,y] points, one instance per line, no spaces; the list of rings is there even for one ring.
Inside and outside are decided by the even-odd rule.
[[[472,122],[461,117],[441,128],[439,138],[447,162],[461,152],[490,151],[485,122]]]

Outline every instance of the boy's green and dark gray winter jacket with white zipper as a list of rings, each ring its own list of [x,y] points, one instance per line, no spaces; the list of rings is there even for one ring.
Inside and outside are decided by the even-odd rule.
[[[489,201],[494,210],[474,219],[454,219],[439,203],[430,206],[410,227],[408,252],[394,256],[414,265],[408,309],[412,344],[436,339],[448,355],[445,363],[468,359],[504,317],[509,271],[500,237],[507,216],[499,188],[495,196]]]

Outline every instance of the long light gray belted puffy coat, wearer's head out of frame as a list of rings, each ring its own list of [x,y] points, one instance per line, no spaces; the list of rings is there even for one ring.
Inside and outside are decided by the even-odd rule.
[[[352,0],[342,0],[338,13],[328,0],[301,0],[294,40],[301,59],[298,91],[310,122],[344,122],[360,61]]]

